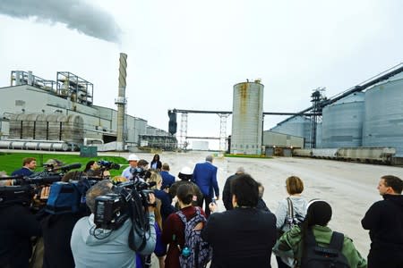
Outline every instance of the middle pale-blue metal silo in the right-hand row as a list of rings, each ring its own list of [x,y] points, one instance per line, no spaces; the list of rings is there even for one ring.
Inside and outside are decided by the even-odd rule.
[[[346,96],[322,111],[322,147],[361,147],[364,92]]]

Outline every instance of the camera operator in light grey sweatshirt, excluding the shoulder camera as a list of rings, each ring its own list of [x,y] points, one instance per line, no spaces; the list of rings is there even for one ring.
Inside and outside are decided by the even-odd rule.
[[[135,267],[135,253],[129,246],[129,234],[133,235],[136,247],[141,247],[141,255],[150,255],[156,244],[154,227],[154,206],[148,206],[150,235],[141,239],[133,222],[128,218],[117,230],[97,229],[94,223],[96,197],[113,194],[113,185],[109,180],[101,180],[92,186],[86,195],[86,203],[90,207],[89,217],[81,218],[74,226],[71,247],[75,267]],[[150,204],[155,204],[155,197],[149,194]],[[133,231],[134,230],[134,231]]]

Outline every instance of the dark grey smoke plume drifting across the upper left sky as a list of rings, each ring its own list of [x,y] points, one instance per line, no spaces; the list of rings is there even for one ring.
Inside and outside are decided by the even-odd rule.
[[[120,41],[121,29],[113,16],[83,0],[1,0],[0,13],[14,18],[60,22],[93,38]]]

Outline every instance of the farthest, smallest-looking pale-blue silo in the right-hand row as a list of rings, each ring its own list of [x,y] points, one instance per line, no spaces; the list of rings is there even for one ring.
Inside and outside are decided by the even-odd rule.
[[[303,137],[304,147],[311,147],[311,120],[304,116],[295,116],[279,123],[272,131]]]

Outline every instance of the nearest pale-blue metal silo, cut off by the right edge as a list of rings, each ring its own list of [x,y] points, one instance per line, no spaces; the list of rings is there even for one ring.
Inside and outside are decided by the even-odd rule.
[[[365,92],[364,147],[395,147],[403,156],[403,74]]]

